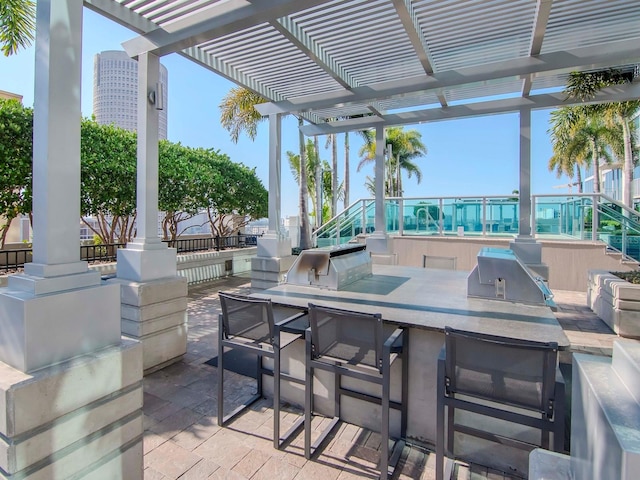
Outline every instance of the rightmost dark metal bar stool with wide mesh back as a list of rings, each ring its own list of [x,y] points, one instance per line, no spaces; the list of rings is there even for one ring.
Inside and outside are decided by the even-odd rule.
[[[455,432],[523,450],[536,446],[548,449],[549,434],[553,433],[553,447],[562,451],[564,380],[557,359],[555,342],[498,337],[446,327],[445,345],[438,359],[436,479],[450,477],[453,464],[445,465],[445,448],[448,455],[455,457]],[[485,431],[486,428],[457,423],[456,410],[540,430],[540,442],[532,444]]]

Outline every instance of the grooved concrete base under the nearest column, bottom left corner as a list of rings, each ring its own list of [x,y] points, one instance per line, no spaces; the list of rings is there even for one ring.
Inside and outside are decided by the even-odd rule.
[[[32,374],[0,363],[0,478],[142,479],[142,346]]]

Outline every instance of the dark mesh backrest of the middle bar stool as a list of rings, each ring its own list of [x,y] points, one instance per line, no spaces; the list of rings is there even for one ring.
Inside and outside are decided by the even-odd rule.
[[[382,317],[309,304],[311,355],[382,372]]]

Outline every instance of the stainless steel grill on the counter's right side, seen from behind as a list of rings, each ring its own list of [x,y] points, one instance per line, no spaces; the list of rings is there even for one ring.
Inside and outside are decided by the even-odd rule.
[[[483,248],[467,277],[467,296],[547,305],[556,309],[546,282],[535,276],[512,250]]]

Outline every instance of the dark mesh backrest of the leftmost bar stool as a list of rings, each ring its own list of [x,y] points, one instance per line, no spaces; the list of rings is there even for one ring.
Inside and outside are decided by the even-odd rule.
[[[241,337],[273,343],[271,300],[219,292],[224,338]]]

